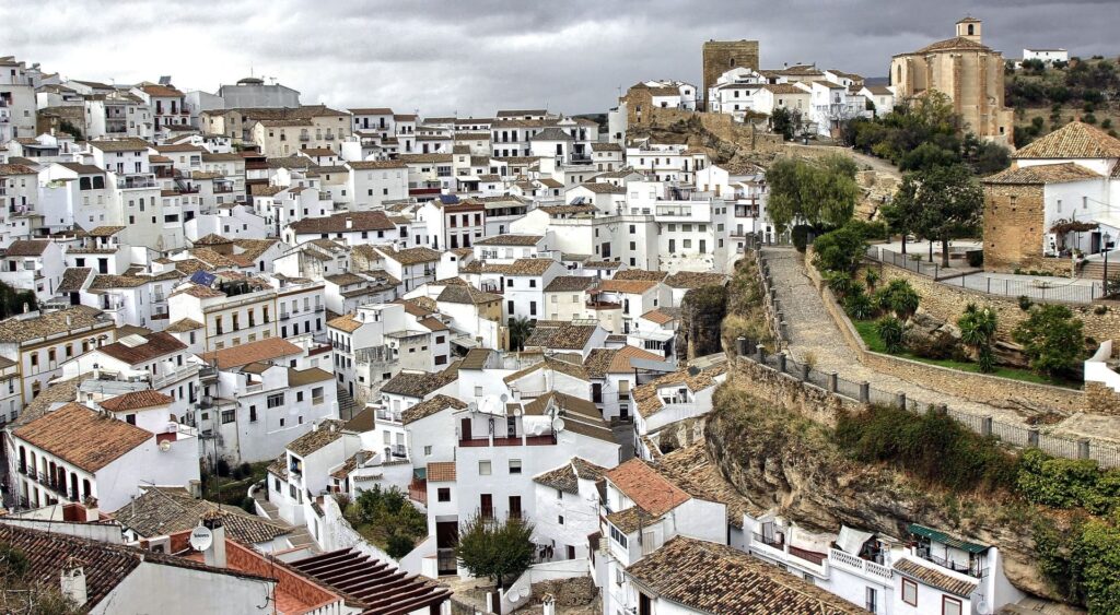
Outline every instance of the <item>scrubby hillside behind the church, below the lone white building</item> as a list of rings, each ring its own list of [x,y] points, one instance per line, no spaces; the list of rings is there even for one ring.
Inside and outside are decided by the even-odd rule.
[[[1120,66],[1117,58],[1070,58],[1052,67],[1027,63],[1005,72],[1005,100],[1015,110],[1015,145],[1021,148],[1081,120],[1117,135]]]

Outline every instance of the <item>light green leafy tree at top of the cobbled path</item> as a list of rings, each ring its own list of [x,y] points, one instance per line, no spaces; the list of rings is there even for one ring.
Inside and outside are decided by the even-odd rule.
[[[843,225],[856,211],[857,170],[856,163],[842,154],[813,162],[776,160],[766,170],[771,219],[783,231],[801,220],[816,228]]]

